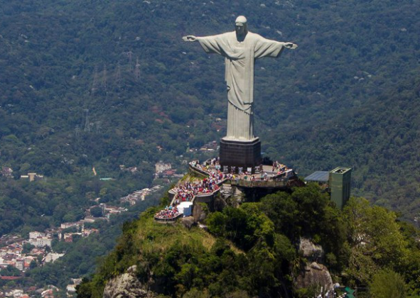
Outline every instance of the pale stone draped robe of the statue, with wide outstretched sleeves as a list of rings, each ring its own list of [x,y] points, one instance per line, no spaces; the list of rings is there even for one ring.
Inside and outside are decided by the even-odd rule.
[[[254,137],[254,61],[279,57],[284,43],[248,32],[243,41],[236,32],[198,37],[206,53],[225,57],[227,84],[227,139],[253,140]]]

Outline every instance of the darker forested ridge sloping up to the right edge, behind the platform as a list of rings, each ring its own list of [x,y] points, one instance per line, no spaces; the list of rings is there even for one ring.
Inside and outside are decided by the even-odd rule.
[[[302,172],[320,164],[325,170],[350,165],[353,194],[400,211],[407,219],[420,208],[419,83],[417,77],[401,82],[340,117],[276,131],[269,143],[283,146]]]

